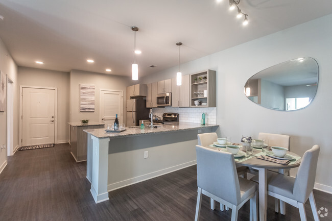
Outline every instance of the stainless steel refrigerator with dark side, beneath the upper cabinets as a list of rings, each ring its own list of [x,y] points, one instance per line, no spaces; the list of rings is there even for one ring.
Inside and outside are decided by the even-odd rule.
[[[139,120],[149,119],[149,108],[146,108],[146,100],[127,100],[126,127],[138,126]]]

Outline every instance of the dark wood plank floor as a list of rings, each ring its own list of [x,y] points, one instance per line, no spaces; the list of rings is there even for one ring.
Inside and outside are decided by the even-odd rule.
[[[85,178],[86,163],[75,163],[69,144],[16,152],[0,174],[0,220],[194,220],[196,166],[178,170],[109,193],[109,201],[95,204]],[[329,210],[332,195],[314,191],[317,207]],[[298,209],[287,205],[286,215],[275,213],[269,199],[268,220],[300,220]],[[217,204],[219,208],[219,204]],[[239,220],[249,220],[249,204]],[[313,220],[309,202],[308,220]],[[209,209],[203,197],[200,220],[230,220],[231,210]]]

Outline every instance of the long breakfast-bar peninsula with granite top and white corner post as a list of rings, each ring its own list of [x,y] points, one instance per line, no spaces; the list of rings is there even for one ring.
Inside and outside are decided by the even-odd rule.
[[[120,133],[84,130],[87,179],[96,203],[109,200],[108,191],[196,164],[197,134],[219,127],[188,122],[157,126],[130,127]]]

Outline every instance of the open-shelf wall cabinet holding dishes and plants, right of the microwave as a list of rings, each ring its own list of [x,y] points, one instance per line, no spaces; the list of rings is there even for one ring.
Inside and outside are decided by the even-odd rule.
[[[216,71],[206,70],[190,76],[191,107],[216,107]]]

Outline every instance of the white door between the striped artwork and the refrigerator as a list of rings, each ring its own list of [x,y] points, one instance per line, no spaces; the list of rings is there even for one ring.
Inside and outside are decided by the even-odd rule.
[[[117,114],[119,124],[122,124],[124,122],[123,92],[101,90],[100,99],[100,116],[106,127],[108,124],[114,123],[115,114]]]

